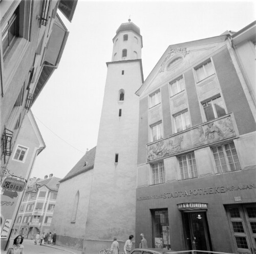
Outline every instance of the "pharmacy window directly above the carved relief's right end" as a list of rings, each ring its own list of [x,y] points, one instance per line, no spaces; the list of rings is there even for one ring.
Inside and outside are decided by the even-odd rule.
[[[206,121],[221,117],[226,114],[221,96],[202,103]]]

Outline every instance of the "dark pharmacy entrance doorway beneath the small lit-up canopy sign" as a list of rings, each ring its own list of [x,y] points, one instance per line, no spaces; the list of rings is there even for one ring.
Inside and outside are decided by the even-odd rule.
[[[206,212],[183,213],[188,249],[211,250]]]

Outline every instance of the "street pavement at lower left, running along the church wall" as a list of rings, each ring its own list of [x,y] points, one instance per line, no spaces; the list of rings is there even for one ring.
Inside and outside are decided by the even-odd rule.
[[[24,245],[24,253],[25,254],[40,254],[40,253],[48,253],[48,254],[81,254],[81,250],[71,249],[68,247],[51,245],[51,244],[34,244],[34,240],[25,239],[22,243]],[[7,251],[1,250],[1,254],[6,254]]]

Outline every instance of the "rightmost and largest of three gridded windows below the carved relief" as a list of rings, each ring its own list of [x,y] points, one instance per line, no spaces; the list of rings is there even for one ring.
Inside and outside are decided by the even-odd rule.
[[[214,155],[217,173],[241,169],[237,150],[233,142],[212,147],[211,150]]]

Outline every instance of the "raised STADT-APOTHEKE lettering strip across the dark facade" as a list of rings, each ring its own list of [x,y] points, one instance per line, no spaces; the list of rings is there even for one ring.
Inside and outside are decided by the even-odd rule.
[[[255,189],[255,188],[256,188],[255,184],[207,187],[207,188],[201,188],[201,189],[191,189],[191,190],[167,192],[167,193],[153,195],[153,196],[140,196],[140,197],[137,197],[137,200],[157,199],[157,198],[176,198],[176,197],[197,196],[197,195],[210,195],[210,194],[224,193],[224,192],[228,192],[228,191],[247,190],[247,189]]]

